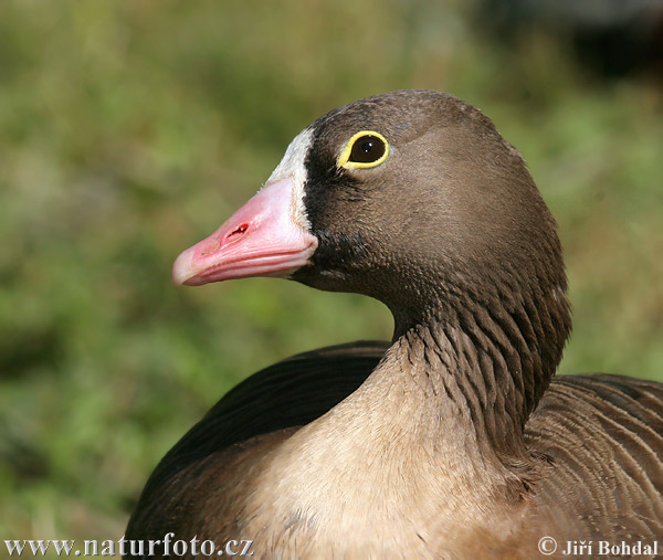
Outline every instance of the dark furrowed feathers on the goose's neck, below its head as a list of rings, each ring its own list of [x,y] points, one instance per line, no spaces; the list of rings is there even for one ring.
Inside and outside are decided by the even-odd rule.
[[[407,382],[422,392],[429,416],[463,419],[461,429],[472,434],[477,452],[526,485],[532,464],[525,424],[570,329],[564,288],[519,298],[486,298],[484,290],[484,302],[465,290],[457,298],[446,294],[444,305],[429,302],[427,315],[415,320],[394,314],[393,348],[407,356]]]

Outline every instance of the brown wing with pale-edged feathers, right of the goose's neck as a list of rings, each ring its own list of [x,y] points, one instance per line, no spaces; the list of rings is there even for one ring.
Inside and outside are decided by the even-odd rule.
[[[557,378],[526,434],[552,458],[540,496],[570,540],[663,537],[662,384],[611,374]]]

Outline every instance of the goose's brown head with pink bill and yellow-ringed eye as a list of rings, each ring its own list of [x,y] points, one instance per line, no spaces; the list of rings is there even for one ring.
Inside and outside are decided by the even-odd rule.
[[[286,277],[385,303],[394,339],[422,325],[509,347],[524,418],[570,330],[556,224],[526,163],[478,109],[401,91],[332,110],[265,186],[185,251],[176,284]]]

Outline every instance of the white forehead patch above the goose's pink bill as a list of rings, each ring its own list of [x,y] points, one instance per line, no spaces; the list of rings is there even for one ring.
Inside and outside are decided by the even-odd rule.
[[[308,179],[308,171],[304,163],[311,149],[312,138],[313,130],[309,128],[302,130],[290,144],[283,159],[267,179],[267,183],[271,183],[287,177],[293,178],[292,219],[293,222],[306,230],[309,229],[311,223],[304,207],[304,184]]]

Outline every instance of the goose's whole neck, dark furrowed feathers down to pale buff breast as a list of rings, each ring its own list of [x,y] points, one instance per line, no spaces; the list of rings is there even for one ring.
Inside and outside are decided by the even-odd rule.
[[[398,511],[412,530],[436,519],[452,532],[514,511],[544,468],[524,425],[566,338],[559,294],[540,298],[545,317],[476,296],[444,311],[429,298],[435,313],[417,320],[394,314],[393,344],[361,387],[264,457],[255,486],[265,494],[251,509],[267,500],[270,516],[298,511],[350,532],[379,526],[385,538]]]

